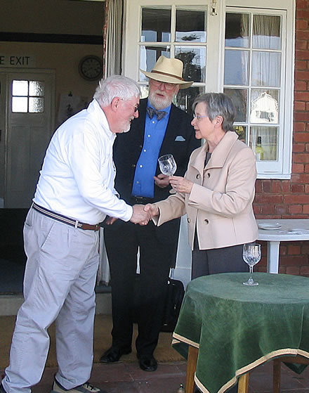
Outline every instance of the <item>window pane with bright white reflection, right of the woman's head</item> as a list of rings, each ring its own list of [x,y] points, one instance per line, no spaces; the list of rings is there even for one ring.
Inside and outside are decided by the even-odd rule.
[[[251,91],[251,123],[279,123],[279,91]]]

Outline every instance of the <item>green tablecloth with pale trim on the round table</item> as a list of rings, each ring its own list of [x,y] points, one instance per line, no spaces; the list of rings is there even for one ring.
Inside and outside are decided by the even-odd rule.
[[[199,348],[195,382],[202,392],[222,393],[236,377],[286,354],[309,358],[309,278],[222,273],[188,284],[173,333],[173,346],[186,355]]]

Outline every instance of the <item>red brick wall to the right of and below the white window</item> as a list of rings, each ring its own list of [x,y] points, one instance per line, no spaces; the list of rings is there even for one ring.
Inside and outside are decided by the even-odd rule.
[[[294,131],[291,180],[256,181],[257,219],[309,219],[309,0],[296,0]],[[256,270],[266,270],[267,245]],[[282,242],[280,273],[309,276],[309,242]]]

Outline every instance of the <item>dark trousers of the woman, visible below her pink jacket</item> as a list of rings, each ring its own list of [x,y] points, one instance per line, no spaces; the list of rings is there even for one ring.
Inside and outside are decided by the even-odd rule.
[[[248,265],[242,259],[242,247],[243,245],[233,245],[211,250],[198,250],[195,236],[195,247],[192,251],[192,280],[201,276],[209,276],[209,274],[249,271]],[[220,373],[219,370],[218,373]],[[238,384],[228,389],[228,393],[237,393],[237,389]]]

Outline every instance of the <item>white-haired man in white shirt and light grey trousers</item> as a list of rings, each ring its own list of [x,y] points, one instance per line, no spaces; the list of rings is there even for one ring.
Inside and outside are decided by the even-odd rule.
[[[25,221],[25,302],[18,311],[10,365],[0,392],[29,393],[44,371],[48,327],[56,322],[58,372],[51,393],[105,393],[87,381],[93,363],[93,320],[100,222],[106,216],[147,223],[142,205],[114,190],[112,146],[138,117],[140,88],[113,76],[93,101],[51,139]]]

